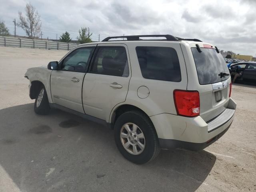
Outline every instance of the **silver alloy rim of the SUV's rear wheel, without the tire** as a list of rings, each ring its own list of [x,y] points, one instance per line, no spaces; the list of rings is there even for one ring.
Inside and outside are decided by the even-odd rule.
[[[120,140],[124,149],[133,155],[141,154],[145,149],[145,136],[134,123],[126,123],[120,130]]]

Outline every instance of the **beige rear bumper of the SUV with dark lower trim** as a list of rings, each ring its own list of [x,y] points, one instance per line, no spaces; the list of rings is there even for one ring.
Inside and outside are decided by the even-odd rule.
[[[173,114],[151,116],[160,147],[201,150],[220,138],[234,119],[236,103],[230,98],[227,109],[205,122],[200,116],[189,118]]]

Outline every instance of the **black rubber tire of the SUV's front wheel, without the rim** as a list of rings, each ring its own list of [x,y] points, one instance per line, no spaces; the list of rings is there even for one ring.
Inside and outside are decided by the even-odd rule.
[[[39,106],[37,106],[38,97],[39,97],[42,89],[44,89],[44,94],[43,94],[43,97],[42,97],[42,100],[41,100]],[[50,111],[48,96],[47,96],[44,86],[41,86],[37,93],[35,104],[34,104],[34,111],[36,112],[36,114],[40,114],[40,115],[47,115]]]

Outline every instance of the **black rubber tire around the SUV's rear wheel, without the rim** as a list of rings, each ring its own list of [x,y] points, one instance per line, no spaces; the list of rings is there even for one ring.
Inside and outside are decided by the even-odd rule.
[[[145,148],[138,154],[130,154],[122,145],[120,139],[120,131],[124,124],[134,123],[136,124],[144,134]],[[150,118],[138,110],[128,111],[121,114],[114,125],[114,137],[118,150],[127,160],[135,164],[144,164],[153,160],[160,151],[158,137]]]

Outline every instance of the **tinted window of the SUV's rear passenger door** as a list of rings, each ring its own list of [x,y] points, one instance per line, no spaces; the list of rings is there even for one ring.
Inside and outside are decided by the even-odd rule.
[[[129,76],[129,67],[124,47],[100,47],[92,72],[112,76]]]

